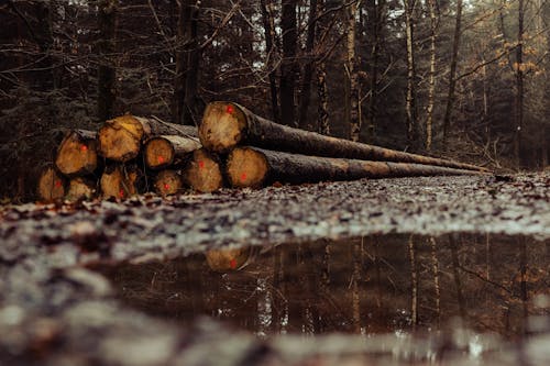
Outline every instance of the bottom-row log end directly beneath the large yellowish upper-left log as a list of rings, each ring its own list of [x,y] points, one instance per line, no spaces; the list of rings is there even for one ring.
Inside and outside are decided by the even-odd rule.
[[[139,192],[140,170],[134,166],[116,164],[107,166],[100,179],[101,197],[103,199],[125,199]]]

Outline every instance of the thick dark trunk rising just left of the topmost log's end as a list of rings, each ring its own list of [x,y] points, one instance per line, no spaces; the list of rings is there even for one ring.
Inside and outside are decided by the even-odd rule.
[[[176,77],[172,119],[178,124],[195,124],[197,113],[197,80],[199,46],[197,40],[198,4],[196,0],[182,0],[176,37]]]

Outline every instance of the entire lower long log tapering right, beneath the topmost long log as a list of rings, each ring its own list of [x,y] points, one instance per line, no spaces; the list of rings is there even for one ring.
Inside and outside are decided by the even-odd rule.
[[[306,156],[246,146],[235,147],[229,154],[227,171],[229,184],[237,188],[260,188],[275,181],[304,184],[360,178],[483,174],[415,163]]]

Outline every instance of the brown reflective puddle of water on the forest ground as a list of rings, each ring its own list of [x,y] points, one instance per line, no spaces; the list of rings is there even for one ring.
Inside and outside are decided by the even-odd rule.
[[[462,319],[517,340],[550,331],[549,258],[550,241],[530,237],[396,234],[97,270],[129,306],[180,324],[208,315],[258,335],[372,335]]]

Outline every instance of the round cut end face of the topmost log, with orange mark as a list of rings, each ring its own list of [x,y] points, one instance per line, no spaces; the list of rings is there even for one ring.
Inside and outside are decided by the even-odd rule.
[[[230,102],[207,106],[199,126],[202,146],[216,153],[227,153],[244,138],[246,117],[241,108]]]

